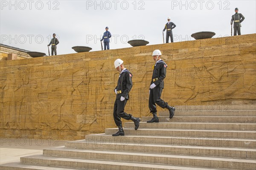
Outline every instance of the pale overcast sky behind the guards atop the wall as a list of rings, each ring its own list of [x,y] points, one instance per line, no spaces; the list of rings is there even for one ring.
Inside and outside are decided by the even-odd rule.
[[[230,36],[236,7],[245,17],[241,34],[256,33],[256,0],[0,0],[0,5],[0,43],[47,55],[53,33],[58,54],[76,53],[73,46],[99,51],[106,26],[111,49],[131,47],[127,42],[134,39],[161,44],[167,17],[176,25],[175,42],[194,40],[191,34],[199,31]]]

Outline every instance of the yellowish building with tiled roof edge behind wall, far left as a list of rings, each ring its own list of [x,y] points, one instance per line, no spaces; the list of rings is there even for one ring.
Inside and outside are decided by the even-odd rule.
[[[32,58],[27,54],[28,50],[0,44],[0,60],[14,60]]]

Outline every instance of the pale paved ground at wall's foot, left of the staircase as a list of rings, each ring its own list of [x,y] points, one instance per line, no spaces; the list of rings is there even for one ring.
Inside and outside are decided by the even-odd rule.
[[[19,162],[20,157],[43,154],[43,149],[64,146],[66,141],[0,137],[0,164]]]

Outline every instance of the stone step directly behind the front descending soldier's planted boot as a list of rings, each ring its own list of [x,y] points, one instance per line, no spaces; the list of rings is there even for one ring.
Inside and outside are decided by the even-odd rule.
[[[190,129],[151,129],[123,128],[125,135],[143,136],[183,136],[183,137],[207,137],[207,138],[242,138],[256,139],[256,131],[241,130],[190,130]],[[105,129],[106,135],[112,135],[118,131],[117,128]]]

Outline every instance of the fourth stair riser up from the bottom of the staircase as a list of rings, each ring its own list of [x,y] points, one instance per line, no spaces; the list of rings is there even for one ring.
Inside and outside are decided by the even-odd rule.
[[[89,143],[90,142],[90,143]],[[164,153],[164,154],[182,154],[182,155],[195,155],[195,156],[223,156],[223,157],[236,157],[236,158],[256,158],[255,151],[244,150],[215,150],[207,148],[187,148],[187,147],[160,147],[160,146],[145,146],[144,144],[128,145],[127,142],[122,144],[116,143],[72,143],[66,142],[65,146],[68,148],[90,149],[90,150],[124,150],[131,152],[146,152],[146,153]]]

